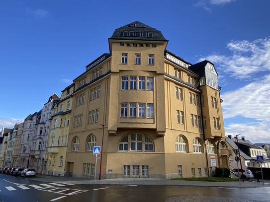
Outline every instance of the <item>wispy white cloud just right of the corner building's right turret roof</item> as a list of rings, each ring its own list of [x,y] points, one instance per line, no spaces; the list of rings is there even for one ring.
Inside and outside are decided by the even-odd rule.
[[[199,61],[209,60],[219,70],[240,79],[270,70],[270,37],[255,41],[231,41],[227,48],[232,52],[231,56],[213,54]]]

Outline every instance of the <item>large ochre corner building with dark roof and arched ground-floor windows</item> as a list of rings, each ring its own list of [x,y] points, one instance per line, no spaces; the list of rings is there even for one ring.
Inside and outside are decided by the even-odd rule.
[[[130,23],[74,79],[67,175],[93,178],[102,139],[101,178],[199,177],[229,167],[216,68],[192,65],[167,44],[160,31]]]

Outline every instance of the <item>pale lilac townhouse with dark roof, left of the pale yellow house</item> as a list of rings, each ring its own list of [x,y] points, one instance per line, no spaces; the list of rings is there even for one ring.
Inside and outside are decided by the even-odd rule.
[[[29,146],[31,152],[29,167],[35,168],[38,174],[45,173],[46,171],[45,155],[50,127],[51,109],[59,99],[59,96],[54,93],[50,96],[48,102],[44,104],[43,109],[32,116],[35,130],[30,136],[31,142]]]

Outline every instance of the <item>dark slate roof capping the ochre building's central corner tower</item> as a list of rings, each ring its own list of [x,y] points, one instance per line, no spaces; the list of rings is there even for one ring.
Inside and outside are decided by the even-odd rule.
[[[133,25],[133,26],[131,26]],[[140,25],[140,26],[136,26]],[[124,36],[123,32],[147,32],[152,33],[153,37],[149,37],[147,34],[147,37],[136,37],[136,36],[130,36],[130,33],[128,33],[128,36]],[[142,41],[167,41],[167,39],[164,38],[161,31],[154,29],[142,22],[134,21],[127,25],[124,25],[122,27],[119,27],[118,29],[115,29],[111,38],[109,39],[124,39],[124,40],[142,40]]]

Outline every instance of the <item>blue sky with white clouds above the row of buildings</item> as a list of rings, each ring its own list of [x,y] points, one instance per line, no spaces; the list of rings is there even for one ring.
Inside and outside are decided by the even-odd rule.
[[[114,29],[139,20],[167,49],[215,64],[226,135],[270,143],[269,0],[0,2],[0,127],[39,111],[108,53]]]

